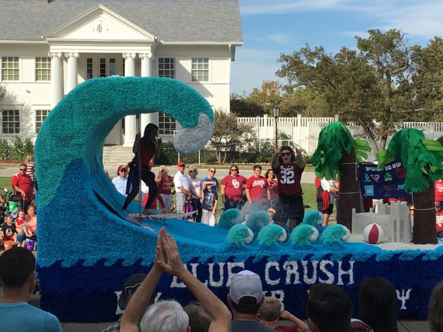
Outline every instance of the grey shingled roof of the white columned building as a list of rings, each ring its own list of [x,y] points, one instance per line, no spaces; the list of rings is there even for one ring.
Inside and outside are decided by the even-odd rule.
[[[164,42],[241,44],[238,0],[1,0],[1,40],[42,40],[97,4]]]

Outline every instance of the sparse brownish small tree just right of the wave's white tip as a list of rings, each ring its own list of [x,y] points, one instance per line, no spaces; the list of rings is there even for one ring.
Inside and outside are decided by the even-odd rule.
[[[252,134],[252,129],[251,123],[238,122],[237,114],[216,110],[214,112],[214,131],[209,141],[215,149],[217,161],[224,163],[227,152],[235,151],[246,136]]]

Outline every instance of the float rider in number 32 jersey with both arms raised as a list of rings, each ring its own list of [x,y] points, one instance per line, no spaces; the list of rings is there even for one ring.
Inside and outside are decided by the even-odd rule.
[[[289,229],[303,221],[305,211],[303,209],[302,188],[300,185],[301,175],[305,169],[305,163],[301,150],[297,154],[290,147],[282,147],[276,150],[272,157],[271,166],[277,177],[277,207],[275,209],[274,222],[285,227],[289,218]]]

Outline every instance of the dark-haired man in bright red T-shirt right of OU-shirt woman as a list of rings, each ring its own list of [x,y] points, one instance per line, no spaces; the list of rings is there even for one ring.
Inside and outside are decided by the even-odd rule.
[[[255,165],[253,169],[254,175],[246,181],[246,198],[252,210],[267,210],[269,208],[268,182],[261,176],[260,165]]]

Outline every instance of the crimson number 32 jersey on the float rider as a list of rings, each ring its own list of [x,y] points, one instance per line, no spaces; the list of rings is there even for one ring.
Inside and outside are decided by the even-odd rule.
[[[275,170],[277,176],[277,191],[281,196],[301,195],[300,186],[301,175],[304,168],[297,167],[295,162],[287,165],[279,163],[279,167]]]

